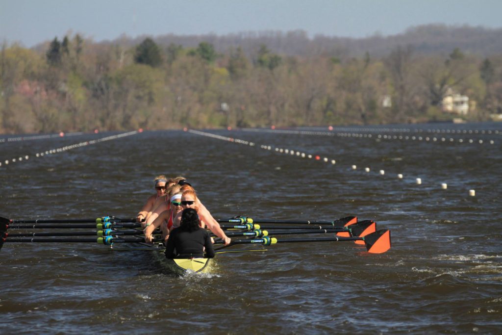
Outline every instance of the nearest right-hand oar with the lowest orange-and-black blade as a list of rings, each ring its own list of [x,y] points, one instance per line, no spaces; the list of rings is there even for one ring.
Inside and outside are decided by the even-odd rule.
[[[298,243],[298,242],[338,242],[338,241],[364,241],[368,253],[381,254],[391,248],[391,231],[379,230],[364,237],[328,237],[328,238],[300,238],[300,239],[277,239],[265,236],[262,239],[236,240],[229,246],[235,244],[263,244],[270,246],[276,243]],[[221,249],[221,248],[220,248]]]

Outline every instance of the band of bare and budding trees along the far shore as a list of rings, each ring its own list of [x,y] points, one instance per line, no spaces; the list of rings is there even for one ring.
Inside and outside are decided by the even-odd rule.
[[[397,45],[378,57],[293,55],[265,43],[218,52],[206,41],[130,46],[76,34],[45,48],[2,45],[0,132],[440,121],[451,119],[441,111],[449,89],[475,102],[469,120],[501,113],[502,54]]]

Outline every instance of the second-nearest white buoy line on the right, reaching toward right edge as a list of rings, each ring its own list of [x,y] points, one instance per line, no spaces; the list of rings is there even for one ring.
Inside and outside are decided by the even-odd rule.
[[[338,136],[338,137],[355,137],[355,138],[374,138],[375,141],[385,140],[404,140],[404,141],[424,141],[424,142],[435,142],[435,143],[467,143],[467,144],[495,144],[495,141],[483,141],[475,139],[454,139],[445,137],[429,137],[429,136],[415,136],[415,135],[387,135],[387,134],[361,134],[361,133],[330,133],[330,132],[315,132],[315,131],[303,131],[303,130],[271,130],[271,129],[243,129],[246,132],[256,132],[256,133],[279,133],[279,134],[293,134],[293,135],[317,135],[317,136]]]

